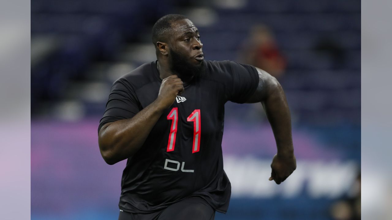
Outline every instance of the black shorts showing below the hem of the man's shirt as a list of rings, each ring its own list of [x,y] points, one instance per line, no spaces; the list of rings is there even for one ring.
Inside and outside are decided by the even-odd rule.
[[[190,197],[167,208],[149,214],[128,213],[120,210],[118,220],[213,220],[215,210],[200,197]]]

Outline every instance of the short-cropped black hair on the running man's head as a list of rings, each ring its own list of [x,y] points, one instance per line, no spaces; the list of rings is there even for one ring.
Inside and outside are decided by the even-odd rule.
[[[167,41],[167,34],[171,31],[172,22],[178,20],[188,19],[182,14],[167,14],[155,22],[154,27],[152,27],[152,43],[156,47],[156,42]]]

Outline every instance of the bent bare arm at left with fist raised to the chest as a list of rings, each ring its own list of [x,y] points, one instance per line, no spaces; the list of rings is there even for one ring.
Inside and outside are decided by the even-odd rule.
[[[169,76],[163,79],[156,100],[134,117],[103,125],[98,133],[98,144],[105,162],[112,165],[134,155],[163,111],[169,108],[176,96],[183,91],[181,79],[176,75]]]

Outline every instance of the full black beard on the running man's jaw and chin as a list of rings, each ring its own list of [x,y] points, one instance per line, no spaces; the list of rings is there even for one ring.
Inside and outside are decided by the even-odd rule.
[[[205,71],[204,61],[199,65],[189,63],[189,61],[181,56],[181,54],[170,49],[171,65],[170,69],[178,74],[182,81],[189,81],[192,77],[199,77]]]

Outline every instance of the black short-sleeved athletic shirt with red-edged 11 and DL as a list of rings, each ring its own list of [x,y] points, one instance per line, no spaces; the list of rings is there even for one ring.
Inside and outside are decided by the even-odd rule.
[[[121,181],[120,209],[152,213],[187,197],[201,197],[226,213],[231,185],[223,171],[224,105],[245,103],[258,85],[257,70],[233,61],[203,61],[205,74],[192,79],[128,158]],[[162,79],[156,61],[113,83],[103,124],[129,119],[156,97]],[[239,146],[240,147],[240,146]]]

